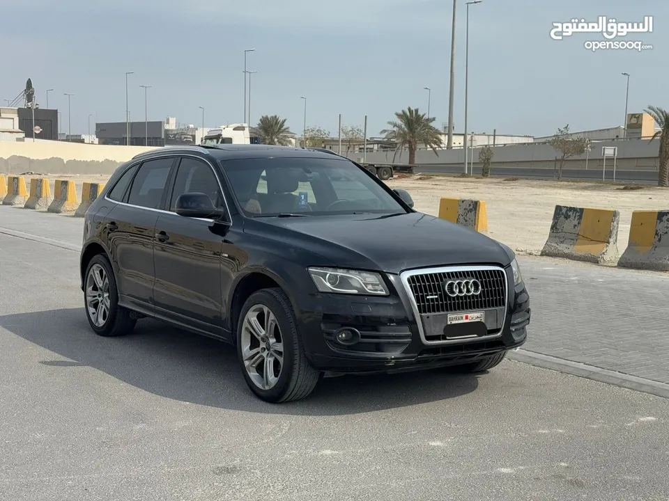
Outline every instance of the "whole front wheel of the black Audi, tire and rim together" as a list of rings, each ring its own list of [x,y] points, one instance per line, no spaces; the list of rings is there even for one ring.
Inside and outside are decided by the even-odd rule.
[[[254,320],[257,331],[251,328]],[[277,353],[281,353],[280,364]],[[262,289],[246,300],[237,322],[237,355],[251,391],[272,404],[307,397],[321,379],[321,373],[307,362],[293,308],[282,289]]]

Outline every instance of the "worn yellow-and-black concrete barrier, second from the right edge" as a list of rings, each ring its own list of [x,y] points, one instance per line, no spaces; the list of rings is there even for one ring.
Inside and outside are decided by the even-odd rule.
[[[598,264],[618,257],[620,212],[556,205],[548,240],[541,255]]]

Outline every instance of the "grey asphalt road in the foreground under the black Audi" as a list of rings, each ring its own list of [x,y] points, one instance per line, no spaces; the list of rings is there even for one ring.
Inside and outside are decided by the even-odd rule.
[[[214,340],[146,320],[96,337],[81,224],[0,207],[0,500],[669,498],[659,397],[507,361],[272,406]]]

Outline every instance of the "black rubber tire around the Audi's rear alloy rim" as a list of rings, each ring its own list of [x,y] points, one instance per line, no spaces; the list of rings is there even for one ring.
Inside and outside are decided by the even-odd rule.
[[[93,271],[93,273],[95,273],[100,271],[100,269],[105,272],[108,282],[108,312],[106,316],[103,315],[104,322],[102,324],[100,324],[95,317],[91,316],[93,315],[91,308],[94,308],[95,303],[89,302],[89,280],[93,280],[93,283],[95,283],[95,279],[91,276],[91,272]],[[95,288],[91,290],[95,290]],[[104,292],[102,293],[102,296],[104,296]],[[88,267],[86,267],[86,275],[84,275],[84,308],[86,310],[86,318],[89,319],[89,324],[97,335],[114,337],[130,334],[134,329],[134,325],[137,324],[137,319],[131,317],[130,310],[118,305],[118,289],[116,288],[114,269],[112,268],[112,264],[109,263],[107,256],[103,254],[93,256]]]

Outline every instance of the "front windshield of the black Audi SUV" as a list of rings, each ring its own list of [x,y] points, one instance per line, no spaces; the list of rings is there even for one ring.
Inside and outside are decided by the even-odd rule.
[[[397,214],[405,209],[345,159],[263,158],[223,162],[247,216]]]

